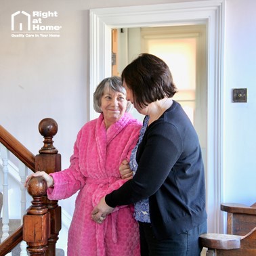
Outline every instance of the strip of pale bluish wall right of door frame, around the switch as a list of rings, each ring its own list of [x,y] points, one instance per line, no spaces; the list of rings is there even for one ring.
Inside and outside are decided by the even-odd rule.
[[[256,1],[228,0],[224,95],[224,197],[226,202],[256,201]],[[232,103],[233,88],[247,88],[247,103]]]

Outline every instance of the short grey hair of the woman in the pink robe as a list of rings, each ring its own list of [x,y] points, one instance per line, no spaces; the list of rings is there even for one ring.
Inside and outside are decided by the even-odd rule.
[[[110,90],[121,92],[126,96],[126,90],[125,87],[123,87],[120,77],[107,77],[106,79],[103,79],[93,93],[93,108],[96,112],[102,113],[102,96],[106,91]],[[127,101],[125,112],[129,112],[131,107],[131,102]]]

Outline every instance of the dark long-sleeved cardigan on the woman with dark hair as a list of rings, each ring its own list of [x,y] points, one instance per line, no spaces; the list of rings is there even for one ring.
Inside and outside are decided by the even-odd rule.
[[[205,222],[205,173],[198,136],[175,101],[151,123],[137,149],[137,171],[106,196],[110,207],[149,198],[156,238],[166,238]]]

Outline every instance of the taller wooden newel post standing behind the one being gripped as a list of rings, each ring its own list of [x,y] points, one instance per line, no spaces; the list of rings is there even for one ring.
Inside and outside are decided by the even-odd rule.
[[[44,137],[44,141],[39,154],[35,156],[35,170],[45,171],[48,174],[60,171],[61,155],[58,154],[53,141],[54,135],[58,132],[58,124],[54,119],[43,119],[39,123],[39,132]],[[47,207],[51,218],[50,236],[45,255],[55,256],[56,242],[61,229],[61,207],[58,206],[58,200],[49,200],[46,195],[43,196],[43,205]]]

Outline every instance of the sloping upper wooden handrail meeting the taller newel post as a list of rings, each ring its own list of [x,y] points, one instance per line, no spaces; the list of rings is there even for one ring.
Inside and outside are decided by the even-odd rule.
[[[14,154],[31,171],[35,171],[35,155],[0,125],[0,143]]]

